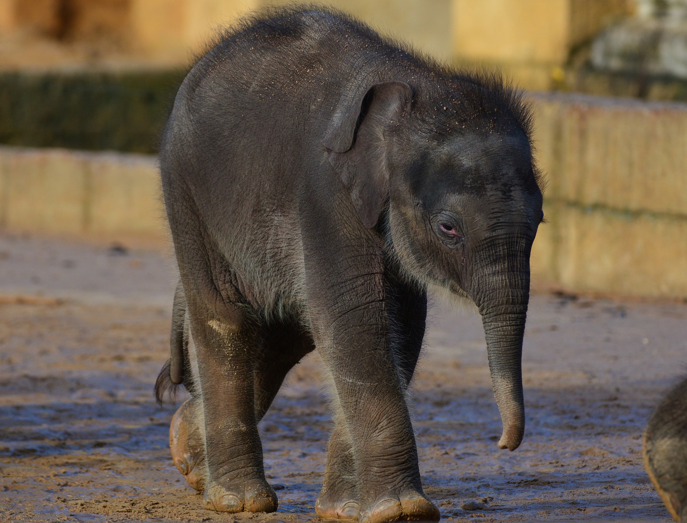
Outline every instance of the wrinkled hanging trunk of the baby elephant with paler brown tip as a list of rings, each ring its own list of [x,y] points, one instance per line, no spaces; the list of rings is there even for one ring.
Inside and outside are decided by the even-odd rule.
[[[503,425],[499,448],[515,450],[525,432],[521,359],[529,301],[529,278],[524,289],[510,288],[495,294],[498,298],[483,304],[480,313],[494,397]]]

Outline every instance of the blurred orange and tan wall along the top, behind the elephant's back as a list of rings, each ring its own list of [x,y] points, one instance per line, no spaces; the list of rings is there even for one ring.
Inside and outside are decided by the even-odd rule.
[[[634,0],[328,0],[385,34],[449,62],[497,66],[526,89],[550,89],[572,51]],[[49,67],[45,51],[27,52],[33,32],[67,48],[54,67],[187,64],[217,27],[251,9],[291,0],[0,0],[0,68]],[[85,52],[84,46],[93,47]],[[78,44],[78,45],[77,45]],[[97,45],[96,45],[97,44]],[[105,45],[107,44],[107,45]],[[76,47],[74,47],[76,46]],[[30,47],[30,46],[29,46]],[[60,47],[61,49],[61,47]],[[76,53],[76,54],[74,54]],[[16,56],[21,55],[21,60]],[[79,58],[80,57],[80,58]],[[99,58],[100,57],[100,58]],[[4,63],[3,63],[4,62]]]

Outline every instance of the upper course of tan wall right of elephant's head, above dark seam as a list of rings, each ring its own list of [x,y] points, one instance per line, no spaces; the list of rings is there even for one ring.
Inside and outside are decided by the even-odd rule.
[[[687,216],[687,104],[533,98],[546,198]]]

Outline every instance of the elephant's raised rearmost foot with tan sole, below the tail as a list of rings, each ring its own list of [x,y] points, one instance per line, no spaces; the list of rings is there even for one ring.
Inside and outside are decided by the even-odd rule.
[[[205,446],[203,430],[196,421],[196,401],[184,402],[170,423],[170,450],[174,465],[196,491],[205,487]]]

